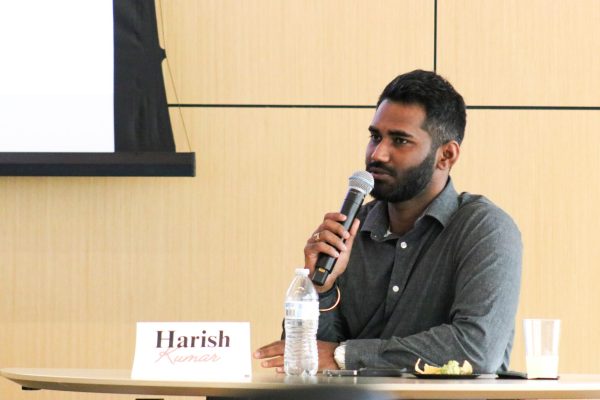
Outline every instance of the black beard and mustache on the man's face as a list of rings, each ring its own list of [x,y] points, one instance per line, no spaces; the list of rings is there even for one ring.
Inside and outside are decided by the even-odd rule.
[[[433,176],[433,166],[435,164],[435,151],[430,150],[427,157],[416,167],[405,171],[402,175],[402,179],[398,179],[398,172],[393,168],[379,162],[374,161],[367,165],[367,170],[370,167],[377,167],[388,172],[391,177],[394,178],[392,183],[384,183],[382,181],[375,181],[375,187],[371,192],[377,200],[384,200],[389,203],[399,203],[410,200],[415,196],[419,195]]]

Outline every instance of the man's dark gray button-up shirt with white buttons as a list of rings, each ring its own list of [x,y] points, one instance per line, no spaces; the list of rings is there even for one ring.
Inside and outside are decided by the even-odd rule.
[[[360,211],[340,305],[321,313],[320,340],[347,340],[346,368],[442,365],[506,369],[514,335],[522,245],[510,216],[449,180],[415,226],[388,231],[387,203]],[[336,299],[332,290],[321,307]]]

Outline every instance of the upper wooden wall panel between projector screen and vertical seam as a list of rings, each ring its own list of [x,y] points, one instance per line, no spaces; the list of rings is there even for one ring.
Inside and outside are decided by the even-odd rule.
[[[370,105],[398,73],[433,68],[432,1],[161,3],[181,103]]]

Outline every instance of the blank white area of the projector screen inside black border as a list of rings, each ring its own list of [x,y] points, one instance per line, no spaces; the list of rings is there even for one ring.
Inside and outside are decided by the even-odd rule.
[[[114,152],[112,0],[0,0],[0,152]]]

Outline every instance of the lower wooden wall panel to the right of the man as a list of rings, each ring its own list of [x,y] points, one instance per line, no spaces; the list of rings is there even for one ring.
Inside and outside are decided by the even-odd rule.
[[[525,365],[522,318],[560,318],[560,371],[599,373],[600,113],[471,110],[468,117],[457,189],[487,195],[523,235],[512,367]]]

